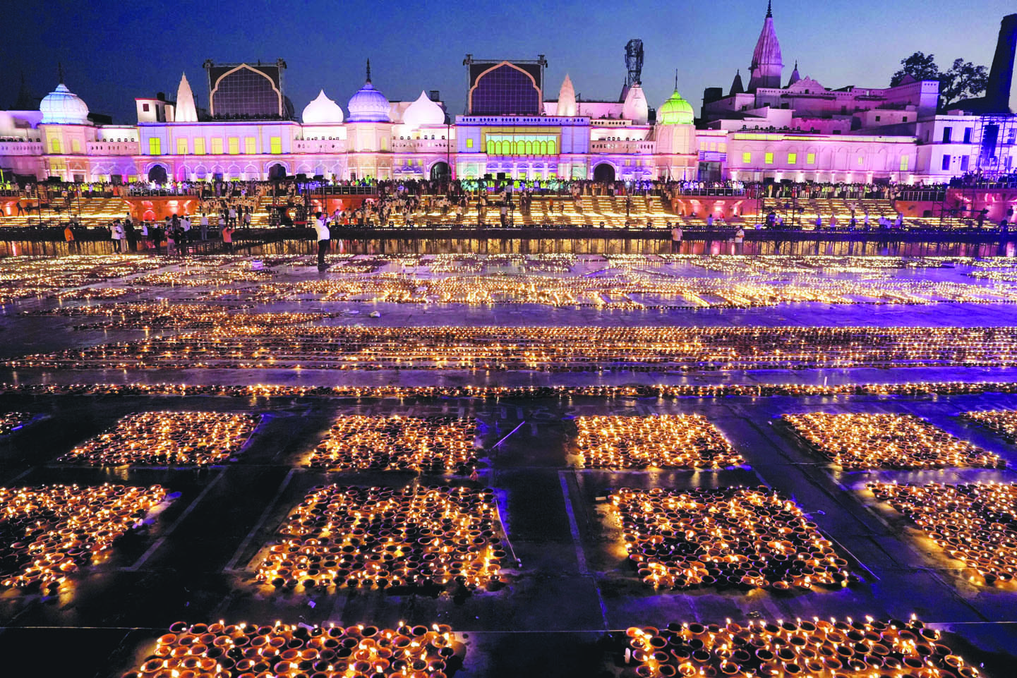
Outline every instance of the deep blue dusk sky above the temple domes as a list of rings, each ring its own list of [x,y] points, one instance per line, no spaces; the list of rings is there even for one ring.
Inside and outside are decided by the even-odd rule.
[[[802,76],[828,87],[886,86],[902,58],[934,53],[991,65],[1000,19],[1013,0],[775,0],[774,20],[786,81],[795,59]],[[186,72],[199,106],[207,104],[201,63],[273,62],[282,57],[287,96],[299,115],[319,88],[346,111],[363,83],[364,60],[390,101],[438,89],[453,114],[463,112],[463,57],[535,59],[546,55],[546,97],[565,73],[586,100],[614,100],[624,78],[623,51],[641,38],[643,86],[651,107],[678,89],[697,112],[703,88],[730,86],[745,74],[766,2],[604,2],[517,0],[512,3],[218,0],[217,2],[39,2],[26,16],[5,17],[0,60],[11,105],[23,71],[36,97],[57,82],[95,113],[136,122],[133,100],[159,90],[172,99]],[[747,82],[747,77],[745,77]],[[1012,100],[1013,101],[1013,100]]]

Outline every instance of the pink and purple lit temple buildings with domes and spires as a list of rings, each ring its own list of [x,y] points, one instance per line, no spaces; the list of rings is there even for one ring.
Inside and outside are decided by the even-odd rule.
[[[175,100],[137,99],[130,125],[97,122],[101,117],[89,116],[63,81],[38,110],[0,112],[0,168],[76,182],[303,174],[938,183],[1017,166],[1017,124],[1008,108],[1015,34],[1011,15],[1003,21],[989,94],[948,111],[938,111],[936,80],[829,88],[799,74],[797,63],[786,73],[769,7],[747,83],[738,71],[730,87],[707,88],[698,117],[679,94],[680,72],[673,94],[651,108],[641,83],[641,43],[637,66],[614,101],[581,101],[567,75],[554,93],[543,56],[468,55],[463,115],[450,112],[437,91],[388,101],[383,87],[391,75],[372,78],[369,65],[345,108],[335,101],[342,101],[340,93],[321,89],[298,110],[285,94],[283,60],[206,61],[207,109],[195,105],[184,76]]]

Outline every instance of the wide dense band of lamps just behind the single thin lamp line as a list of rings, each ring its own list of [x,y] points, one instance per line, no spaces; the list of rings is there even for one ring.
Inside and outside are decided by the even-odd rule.
[[[8,367],[589,371],[1017,365],[1017,327],[246,327],[68,349]]]

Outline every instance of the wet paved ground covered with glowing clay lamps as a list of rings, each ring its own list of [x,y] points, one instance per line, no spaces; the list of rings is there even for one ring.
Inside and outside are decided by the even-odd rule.
[[[331,263],[0,260],[11,667],[1012,675],[1011,260]]]

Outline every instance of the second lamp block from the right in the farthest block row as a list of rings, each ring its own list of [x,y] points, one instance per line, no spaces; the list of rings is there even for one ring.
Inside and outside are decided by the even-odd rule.
[[[810,445],[848,471],[869,469],[1001,469],[1006,460],[913,415],[784,415]]]

